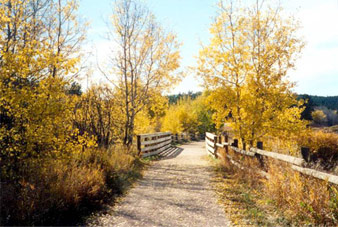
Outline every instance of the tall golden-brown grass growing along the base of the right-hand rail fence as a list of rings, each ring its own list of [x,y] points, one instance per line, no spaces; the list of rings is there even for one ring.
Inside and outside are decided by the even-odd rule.
[[[305,176],[281,161],[264,159],[261,167],[255,157],[229,151],[222,160],[222,170],[272,204],[292,225],[338,225],[338,188],[326,181]],[[268,177],[260,171],[268,172]],[[260,203],[260,202],[259,202]]]

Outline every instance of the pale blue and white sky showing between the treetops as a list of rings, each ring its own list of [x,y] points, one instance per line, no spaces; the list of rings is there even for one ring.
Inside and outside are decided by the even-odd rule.
[[[246,0],[250,2],[250,0]],[[245,1],[245,2],[246,2]],[[181,70],[186,78],[171,93],[201,91],[201,81],[189,67],[196,65],[201,45],[210,39],[209,28],[216,16],[218,0],[145,0],[162,26],[177,34],[181,46]],[[252,2],[252,1],[251,1]],[[289,78],[297,83],[300,94],[338,95],[338,0],[284,0],[285,11],[299,19],[299,31],[306,46]],[[96,62],[104,65],[110,43],[105,39],[112,0],[81,0],[79,14],[90,22],[86,46],[93,52],[93,76],[90,83],[105,82]],[[83,82],[88,86],[87,81]]]

